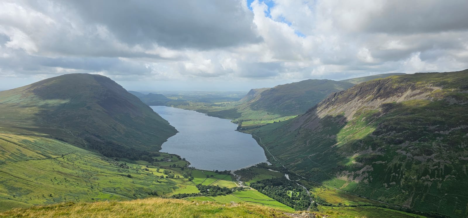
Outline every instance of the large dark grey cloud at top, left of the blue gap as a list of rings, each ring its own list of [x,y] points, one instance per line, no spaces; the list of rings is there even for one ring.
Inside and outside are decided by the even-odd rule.
[[[261,41],[253,14],[234,0],[70,0],[59,6],[129,45],[213,49]]]

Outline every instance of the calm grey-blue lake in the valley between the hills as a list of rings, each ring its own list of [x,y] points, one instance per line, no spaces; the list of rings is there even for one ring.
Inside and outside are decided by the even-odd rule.
[[[161,152],[184,157],[190,167],[235,170],[267,161],[263,148],[251,135],[235,131],[231,120],[168,106],[151,108],[179,131],[162,144]]]

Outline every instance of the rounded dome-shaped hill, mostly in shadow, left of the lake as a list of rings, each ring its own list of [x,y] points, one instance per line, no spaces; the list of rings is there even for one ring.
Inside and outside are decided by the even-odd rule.
[[[66,74],[0,92],[2,129],[130,157],[157,151],[176,129],[108,77]]]

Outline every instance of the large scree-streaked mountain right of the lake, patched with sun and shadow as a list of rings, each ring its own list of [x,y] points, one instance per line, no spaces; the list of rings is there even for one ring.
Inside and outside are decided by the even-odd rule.
[[[332,93],[253,134],[271,162],[315,183],[467,217],[467,105],[468,70],[391,76]]]

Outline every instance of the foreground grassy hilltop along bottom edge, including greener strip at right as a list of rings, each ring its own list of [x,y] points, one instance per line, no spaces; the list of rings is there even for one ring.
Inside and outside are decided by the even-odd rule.
[[[375,207],[357,208],[330,208],[319,206],[319,212],[314,212],[315,217],[328,218],[424,218],[400,211]],[[114,218],[298,218],[307,217],[302,213],[271,208],[243,202],[212,202],[205,197],[204,202],[146,198],[132,201],[107,201],[95,203],[61,203],[47,206],[35,206],[29,209],[15,209],[0,213],[1,217],[114,217]],[[307,214],[307,213],[306,213]],[[389,215],[389,216],[386,216]]]

